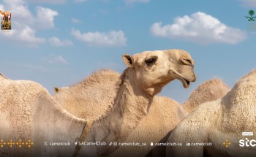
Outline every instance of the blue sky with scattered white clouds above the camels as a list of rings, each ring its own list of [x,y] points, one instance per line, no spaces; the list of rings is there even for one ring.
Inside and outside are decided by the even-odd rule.
[[[160,95],[184,102],[206,80],[233,87],[255,68],[249,9],[255,0],[1,0],[12,31],[0,31],[0,72],[52,93],[97,69],[122,72],[124,53],[178,48],[194,58],[197,82],[184,89],[173,81]]]

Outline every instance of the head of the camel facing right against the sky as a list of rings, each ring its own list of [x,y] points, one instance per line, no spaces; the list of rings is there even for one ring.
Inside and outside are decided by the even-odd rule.
[[[155,50],[123,55],[128,77],[150,96],[159,93],[170,81],[178,79],[184,88],[195,82],[194,60],[184,50]]]

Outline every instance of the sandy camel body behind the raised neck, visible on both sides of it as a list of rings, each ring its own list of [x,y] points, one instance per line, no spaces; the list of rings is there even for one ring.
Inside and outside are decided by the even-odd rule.
[[[78,85],[71,87],[55,88],[55,95],[53,96],[57,102],[63,105],[63,107],[71,112],[78,118],[97,118],[97,115],[101,115],[102,112],[108,113],[112,103],[112,99],[108,99],[110,96],[105,96],[106,93],[113,93],[116,91],[116,81],[119,77],[116,72],[112,74],[112,70],[103,70],[91,74]],[[111,80],[105,80],[108,75],[113,75]],[[91,77],[97,81],[94,81],[93,85],[90,85]],[[108,88],[102,88],[102,85],[108,84]],[[97,90],[99,89],[99,90]],[[83,94],[83,96],[82,96]],[[87,98],[90,95],[90,98]],[[94,101],[96,96],[97,101]],[[102,99],[100,99],[102,97]],[[89,102],[91,101],[91,102]],[[90,107],[91,105],[91,107]],[[88,110],[93,108],[91,112]],[[99,108],[99,110],[97,110]],[[105,111],[104,111],[105,110]],[[166,136],[171,129],[186,117],[187,112],[181,107],[178,102],[169,99],[165,96],[154,96],[151,107],[148,111],[148,115],[143,118],[142,122],[138,125],[132,135],[126,140],[129,142],[146,143],[147,146],[121,146],[111,156],[146,156],[151,150],[151,142],[159,142],[160,139]],[[151,137],[148,139],[148,137]],[[167,139],[166,139],[167,140]],[[165,153],[165,151],[157,151]],[[155,151],[154,151],[155,153]]]

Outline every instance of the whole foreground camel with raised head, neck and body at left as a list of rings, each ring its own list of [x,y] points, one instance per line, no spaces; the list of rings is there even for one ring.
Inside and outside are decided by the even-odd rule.
[[[172,80],[178,79],[184,88],[196,80],[194,61],[184,50],[146,51],[123,55],[128,66],[118,81],[115,102],[108,115],[102,115],[91,126],[86,143],[102,142],[100,146],[86,146],[81,156],[106,156],[118,147],[111,142],[124,142],[147,115],[154,96]],[[23,91],[26,91],[24,93]],[[0,137],[34,141],[34,149],[25,154],[36,156],[71,156],[72,149],[50,147],[45,142],[70,142],[74,146],[90,120],[76,118],[41,85],[23,80],[1,80]],[[13,115],[12,117],[12,114]],[[16,132],[18,131],[18,132]],[[72,143],[72,144],[71,144]],[[104,145],[105,144],[105,145]],[[74,146],[75,147],[75,146]],[[70,147],[68,147],[70,148]],[[9,149],[10,150],[10,149]],[[1,154],[12,152],[3,150]]]

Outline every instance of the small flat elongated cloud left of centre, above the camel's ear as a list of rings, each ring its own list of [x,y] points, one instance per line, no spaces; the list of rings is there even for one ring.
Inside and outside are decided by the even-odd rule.
[[[79,30],[72,28],[71,34],[76,39],[91,46],[125,46],[127,42],[123,31],[109,31],[107,33],[95,31],[81,34]]]

